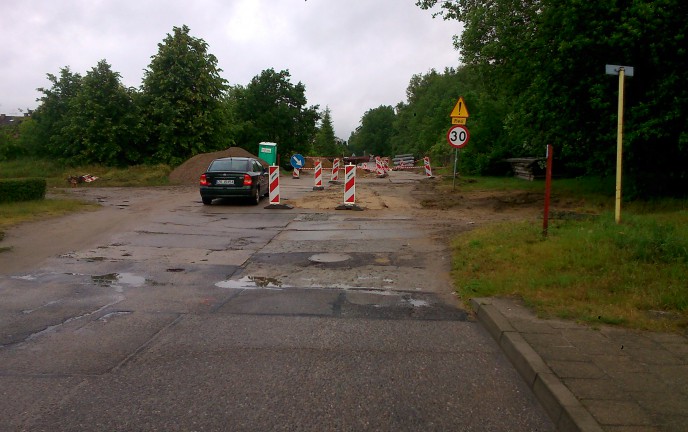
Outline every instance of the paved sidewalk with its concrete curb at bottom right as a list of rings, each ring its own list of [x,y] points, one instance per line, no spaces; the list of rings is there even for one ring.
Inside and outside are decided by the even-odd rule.
[[[688,337],[542,320],[472,301],[560,431],[688,431]]]

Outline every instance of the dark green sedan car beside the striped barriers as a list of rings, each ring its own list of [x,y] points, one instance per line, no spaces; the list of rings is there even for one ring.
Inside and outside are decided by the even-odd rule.
[[[257,205],[269,193],[268,170],[254,158],[215,159],[201,175],[200,186],[205,205],[216,198],[244,198]]]

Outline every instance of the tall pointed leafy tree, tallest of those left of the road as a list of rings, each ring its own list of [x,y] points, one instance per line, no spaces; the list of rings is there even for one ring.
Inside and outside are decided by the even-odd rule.
[[[225,148],[227,123],[223,103],[226,80],[208,44],[174,27],[144,73],[142,114],[150,161],[178,164],[207,151]]]

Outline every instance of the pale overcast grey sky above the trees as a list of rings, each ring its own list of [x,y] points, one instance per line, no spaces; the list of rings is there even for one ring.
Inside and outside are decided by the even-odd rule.
[[[20,0],[0,14],[0,113],[35,108],[47,73],[84,75],[102,59],[138,88],[158,43],[182,25],[230,84],[289,69],[345,140],[368,109],[405,101],[413,74],[459,63],[459,23],[415,0]]]

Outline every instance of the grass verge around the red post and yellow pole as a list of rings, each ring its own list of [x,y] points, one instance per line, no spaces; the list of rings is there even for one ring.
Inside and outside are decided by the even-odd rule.
[[[543,181],[475,180],[461,191],[544,195]],[[444,187],[451,190],[451,179]],[[543,317],[685,332],[688,201],[625,202],[617,225],[613,180],[558,180],[552,196],[576,209],[558,213],[553,205],[546,237],[542,220],[533,220],[480,227],[453,241],[461,298],[516,296]]]

